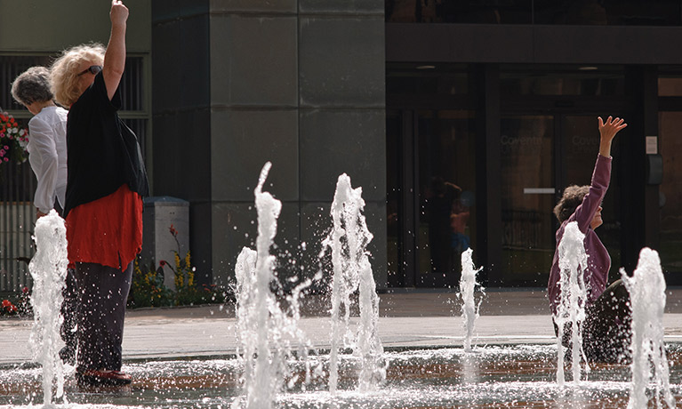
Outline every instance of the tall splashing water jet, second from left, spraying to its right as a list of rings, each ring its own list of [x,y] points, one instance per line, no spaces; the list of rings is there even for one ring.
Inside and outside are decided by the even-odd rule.
[[[269,250],[277,232],[277,217],[282,209],[280,201],[262,191],[270,167],[269,162],[263,166],[258,186],[254,190],[258,211],[257,250],[245,247],[237,257],[235,269],[237,337],[245,361],[243,380],[246,407],[249,409],[272,407],[275,394],[282,389],[283,380],[290,375],[286,358],[291,355],[294,344],[299,347],[299,357],[303,361],[309,350],[309,341],[305,340],[298,325],[298,301],[302,289],[309,286],[311,281],[297,286],[293,295],[288,297],[291,314],[281,309],[270,291],[270,283],[275,280],[275,256],[270,255]],[[306,368],[305,381],[308,382],[307,365]],[[233,406],[238,406],[237,400]]]

